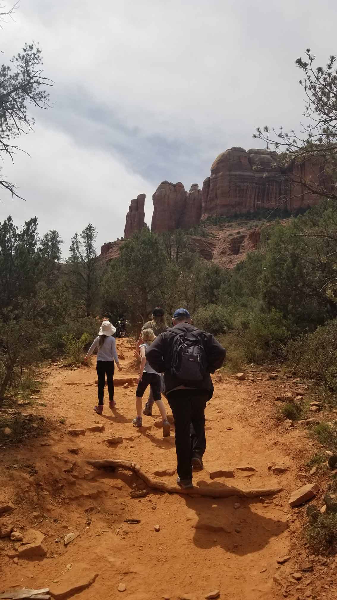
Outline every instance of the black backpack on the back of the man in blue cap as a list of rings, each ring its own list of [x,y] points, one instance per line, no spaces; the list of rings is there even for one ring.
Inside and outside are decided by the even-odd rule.
[[[202,381],[206,366],[203,331],[195,329],[177,334],[171,350],[171,374],[182,381]]]

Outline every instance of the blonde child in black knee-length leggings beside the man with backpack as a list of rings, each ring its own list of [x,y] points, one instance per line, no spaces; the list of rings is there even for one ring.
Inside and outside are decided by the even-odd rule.
[[[170,436],[170,424],[167,421],[166,410],[164,407],[163,400],[161,400],[160,388],[161,388],[161,378],[160,373],[157,373],[154,369],[152,369],[149,363],[146,361],[145,352],[149,348],[151,348],[152,342],[155,340],[155,334],[152,329],[144,329],[142,332],[142,340],[143,343],[140,344],[140,368],[139,368],[139,377],[137,379],[137,390],[136,390],[136,411],[137,416],[133,419],[133,424],[136,427],[142,427],[143,419],[142,419],[142,398],[144,392],[148,386],[151,386],[152,395],[154,397],[154,401],[160,410],[161,418],[163,419],[163,437]]]

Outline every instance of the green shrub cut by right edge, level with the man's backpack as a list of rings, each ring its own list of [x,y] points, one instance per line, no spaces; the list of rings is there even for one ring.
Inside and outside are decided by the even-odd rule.
[[[288,344],[288,360],[299,376],[308,377],[337,393],[337,319]]]

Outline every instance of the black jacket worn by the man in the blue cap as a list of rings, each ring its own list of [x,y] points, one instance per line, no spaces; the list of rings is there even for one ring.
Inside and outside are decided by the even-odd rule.
[[[149,361],[149,365],[157,371],[157,373],[164,373],[165,395],[169,394],[172,389],[185,385],[188,388],[205,389],[209,391],[209,398],[212,398],[214,388],[212,379],[210,379],[210,373],[214,373],[216,369],[221,367],[226,355],[225,349],[222,348],[221,344],[219,344],[212,334],[207,334],[205,331],[201,334],[208,361],[207,372],[201,382],[194,381],[189,385],[187,381],[182,382],[180,379],[177,379],[176,376],[171,374],[171,351],[174,338],[180,333],[190,333],[192,331],[198,330],[189,323],[178,323],[178,325],[171,327],[158,335],[149,349],[146,350],[145,356]]]

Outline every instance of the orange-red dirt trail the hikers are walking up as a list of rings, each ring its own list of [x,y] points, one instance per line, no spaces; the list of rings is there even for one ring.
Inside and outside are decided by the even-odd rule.
[[[132,358],[131,343],[118,340],[118,350],[125,355],[121,364],[127,365]],[[294,538],[298,525],[288,497],[306,483],[297,473],[312,450],[300,429],[285,432],[273,421],[268,398],[280,384],[266,382],[263,373],[255,373],[254,382],[237,383],[230,376],[215,382],[215,394],[206,409],[205,469],[194,476],[194,484],[281,487],[281,493],[248,500],[148,490],[143,499],[132,499],[131,490],[146,487],[136,475],[97,471],[86,459],[131,460],[151,475],[166,469],[173,472],[174,430],[163,439],[156,408],[153,417],[143,418],[145,428],[133,427],[134,387],[116,386],[115,413],[106,404],[103,415],[96,415],[92,410],[97,400],[94,362],[90,369],[49,368],[48,385],[41,392],[47,406],[33,410],[58,422],[65,418],[65,424],[58,424],[46,438],[5,452],[0,459],[0,505],[4,501],[16,506],[7,520],[22,532],[31,528],[42,532],[48,550],[43,560],[19,559],[15,565],[13,557],[7,556],[13,553],[13,543],[0,540],[4,556],[1,589],[50,587],[56,598],[66,598],[71,595],[67,589],[79,579],[83,580],[83,600],[121,596],[175,600],[184,594],[200,600],[214,589],[227,600],[270,600],[284,593],[287,598],[311,597],[313,574],[303,573],[300,582],[290,576],[306,553]],[[134,373],[124,369],[116,379],[127,376]],[[261,401],[257,401],[259,393]],[[86,431],[78,437],[68,434],[72,428],[95,424],[103,424],[105,431]],[[122,436],[123,442],[109,446],[104,439],[112,436]],[[70,448],[78,448],[79,454],[70,454]],[[34,464],[37,473],[29,474],[28,463]],[[267,468],[270,464],[290,468],[275,476]],[[237,469],[240,466],[251,466],[254,471]],[[210,480],[209,472],[225,468],[234,470],[234,478]],[[173,484],[176,473],[158,479]],[[240,508],[234,508],[237,502]],[[140,523],[125,523],[128,518],[140,519]],[[154,530],[157,525],[160,532]],[[65,547],[64,536],[72,532],[80,535]],[[276,559],[287,554],[291,560],[278,566]],[[279,577],[284,577],[281,585]],[[324,577],[322,586],[329,584]],[[91,578],[95,581],[89,585]],[[119,583],[125,583],[125,592],[118,592]],[[324,598],[323,592],[312,598]],[[326,597],[335,598],[333,593]]]

